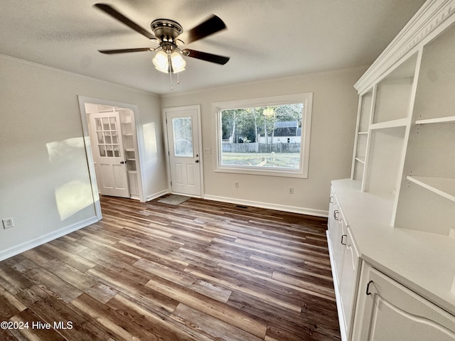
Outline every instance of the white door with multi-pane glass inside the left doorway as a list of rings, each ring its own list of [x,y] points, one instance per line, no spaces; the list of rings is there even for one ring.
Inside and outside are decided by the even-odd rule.
[[[118,112],[90,114],[92,152],[102,195],[129,197],[127,164]]]

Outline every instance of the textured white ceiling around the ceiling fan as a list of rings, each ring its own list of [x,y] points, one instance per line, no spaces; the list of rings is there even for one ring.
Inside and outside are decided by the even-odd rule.
[[[141,90],[171,92],[154,53],[98,49],[153,43],[88,0],[1,0],[0,53]],[[171,18],[184,30],[211,13],[227,31],[186,47],[230,56],[226,65],[186,58],[173,92],[370,65],[424,0],[107,0],[150,30]]]

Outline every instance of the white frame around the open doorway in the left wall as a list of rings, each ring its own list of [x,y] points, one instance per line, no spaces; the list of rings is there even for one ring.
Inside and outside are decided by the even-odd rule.
[[[87,121],[87,112],[85,112],[85,103],[93,103],[93,104],[102,104],[107,105],[110,107],[122,107],[132,110],[134,114],[134,125],[136,129],[136,139],[137,139],[137,146],[138,146],[138,158],[139,158],[139,172],[138,182],[139,182],[139,200],[141,202],[144,201],[144,188],[142,188],[142,167],[140,166],[141,163],[141,147],[139,146],[139,126],[138,122],[138,114],[139,110],[136,104],[129,104],[129,103],[122,103],[122,102],[114,102],[107,99],[100,99],[95,97],[86,97],[77,95],[77,100],[79,102],[79,111],[80,111],[80,119],[82,122],[82,139],[84,140],[85,146],[85,155],[87,156],[87,166],[88,166],[88,173],[90,175],[90,183],[92,185],[92,196],[93,201],[95,202],[95,213],[98,220],[102,219],[101,214],[101,205],[100,205],[100,194],[98,193],[98,184],[97,184],[97,177],[95,173],[95,160],[93,158],[92,153],[92,146],[90,142],[90,134],[89,134],[89,122]]]

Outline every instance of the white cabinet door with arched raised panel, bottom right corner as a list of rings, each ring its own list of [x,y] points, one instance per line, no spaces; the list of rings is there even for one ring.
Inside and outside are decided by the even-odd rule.
[[[353,340],[454,341],[455,317],[364,264]]]

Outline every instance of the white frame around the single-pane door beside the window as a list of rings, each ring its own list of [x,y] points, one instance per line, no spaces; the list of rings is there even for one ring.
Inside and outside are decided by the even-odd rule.
[[[163,108],[162,118],[163,118],[163,134],[164,134],[164,148],[165,148],[165,157],[166,157],[166,171],[168,174],[168,188],[169,192],[172,192],[171,186],[171,160],[169,158],[169,143],[168,143],[168,129],[166,124],[166,112],[180,112],[182,110],[195,110],[196,109],[196,116],[198,117],[198,141],[199,141],[199,176],[200,176],[200,197],[204,197],[204,161],[203,161],[203,147],[202,147],[202,122],[200,120],[200,104],[194,105],[187,105],[184,107],[168,107]],[[191,195],[188,195],[191,196]]]

